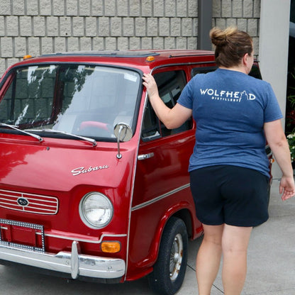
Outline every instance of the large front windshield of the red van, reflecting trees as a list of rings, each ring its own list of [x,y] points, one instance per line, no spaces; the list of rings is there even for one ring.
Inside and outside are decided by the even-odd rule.
[[[117,123],[133,127],[139,87],[140,75],[130,69],[69,64],[21,67],[3,84],[0,122],[40,132],[52,129],[115,138]]]

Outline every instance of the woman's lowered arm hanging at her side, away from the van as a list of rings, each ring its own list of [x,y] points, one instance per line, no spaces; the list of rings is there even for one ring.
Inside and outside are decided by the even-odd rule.
[[[283,174],[279,185],[279,193],[282,194],[283,200],[289,199],[295,195],[294,176],[289,145],[282,128],[281,120],[265,123],[264,130],[267,143],[272,149]]]

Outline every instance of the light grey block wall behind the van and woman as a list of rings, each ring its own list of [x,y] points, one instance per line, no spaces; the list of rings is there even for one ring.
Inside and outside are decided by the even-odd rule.
[[[213,26],[247,30],[255,50],[259,16],[260,0],[213,0]],[[27,54],[196,49],[197,35],[197,0],[1,0],[0,75]]]

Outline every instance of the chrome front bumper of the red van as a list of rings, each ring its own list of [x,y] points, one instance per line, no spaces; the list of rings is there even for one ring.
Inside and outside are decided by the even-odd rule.
[[[72,243],[72,252],[33,252],[24,249],[0,245],[0,260],[40,267],[55,272],[71,274],[77,277],[94,277],[99,279],[116,279],[126,272],[124,260],[79,254],[79,243]]]

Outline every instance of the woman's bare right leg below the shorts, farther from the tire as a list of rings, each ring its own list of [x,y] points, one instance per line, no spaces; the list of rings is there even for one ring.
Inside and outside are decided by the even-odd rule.
[[[225,295],[239,295],[247,274],[247,247],[252,227],[225,225],[223,229],[223,288]]]

